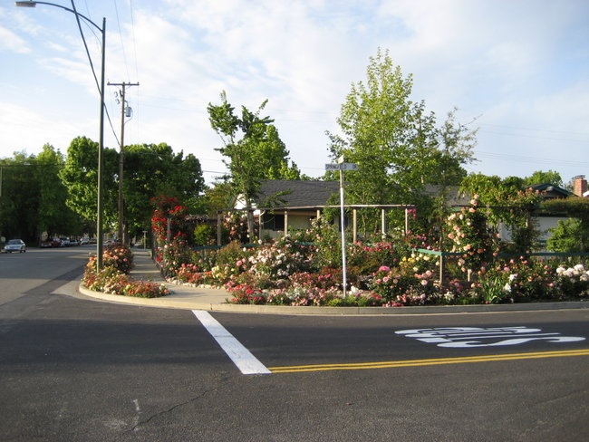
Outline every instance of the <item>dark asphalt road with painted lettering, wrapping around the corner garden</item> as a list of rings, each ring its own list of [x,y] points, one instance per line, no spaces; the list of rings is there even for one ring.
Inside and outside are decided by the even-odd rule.
[[[0,255],[0,440],[589,434],[588,309],[317,317],[100,303],[75,290],[91,251]],[[267,374],[244,374],[244,360]]]

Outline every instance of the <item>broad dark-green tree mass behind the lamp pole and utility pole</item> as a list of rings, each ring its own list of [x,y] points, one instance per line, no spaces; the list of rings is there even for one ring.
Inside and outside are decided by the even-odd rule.
[[[118,219],[119,153],[104,149],[104,221],[114,226]],[[152,197],[166,195],[198,204],[204,187],[200,162],[193,155],[174,153],[166,143],[134,145],[125,148],[123,199],[125,224],[130,235],[140,236],[150,226]],[[98,145],[91,139],[72,140],[60,173],[68,189],[67,205],[84,219],[96,219]]]

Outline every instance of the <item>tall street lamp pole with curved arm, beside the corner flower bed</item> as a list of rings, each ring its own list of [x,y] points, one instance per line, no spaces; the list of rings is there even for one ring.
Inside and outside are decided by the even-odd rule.
[[[98,185],[97,185],[97,203],[96,203],[96,270],[100,271],[102,268],[102,200],[103,200],[103,177],[102,177],[102,168],[104,164],[103,159],[103,151],[104,151],[104,53],[106,48],[106,17],[102,17],[102,27],[98,24],[92,22],[90,18],[87,16],[80,14],[78,11],[75,10],[75,5],[73,4],[72,0],[72,8],[57,5],[54,3],[49,2],[34,2],[34,1],[24,1],[24,2],[14,2],[14,5],[18,7],[35,7],[36,5],[49,5],[55,6],[65,11],[68,11],[74,14],[78,19],[82,18],[88,24],[92,24],[102,35],[102,47],[101,47],[101,84],[99,86],[101,92],[101,117],[100,117],[100,135],[98,141]],[[92,67],[92,61],[91,61]],[[92,70],[94,68],[92,67]]]

